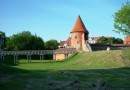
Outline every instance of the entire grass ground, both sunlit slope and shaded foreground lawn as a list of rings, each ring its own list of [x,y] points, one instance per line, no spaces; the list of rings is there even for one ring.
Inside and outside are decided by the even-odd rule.
[[[129,52],[81,52],[61,62],[0,63],[0,90],[129,90],[130,60],[124,59]]]

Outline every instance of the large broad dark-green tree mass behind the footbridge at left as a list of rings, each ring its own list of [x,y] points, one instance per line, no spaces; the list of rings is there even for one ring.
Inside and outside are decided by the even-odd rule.
[[[9,50],[39,50],[44,49],[44,41],[29,31],[23,31],[11,36],[7,40],[6,47]]]

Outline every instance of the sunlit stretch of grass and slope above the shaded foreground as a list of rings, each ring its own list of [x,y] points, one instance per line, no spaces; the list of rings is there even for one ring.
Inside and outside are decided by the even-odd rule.
[[[123,67],[124,62],[121,57],[122,52],[118,51],[96,51],[96,52],[82,52],[73,58],[67,59],[63,62],[43,61],[43,63],[27,64],[27,61],[22,61],[20,65],[16,66],[20,69],[27,70],[81,70],[81,69],[104,69]],[[40,62],[40,61],[32,61]],[[23,64],[22,64],[23,63]]]

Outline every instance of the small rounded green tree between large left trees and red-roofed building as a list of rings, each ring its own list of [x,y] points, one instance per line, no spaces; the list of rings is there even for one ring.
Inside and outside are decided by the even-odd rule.
[[[54,39],[45,42],[45,47],[48,50],[58,49],[58,45],[59,45],[58,41]]]

